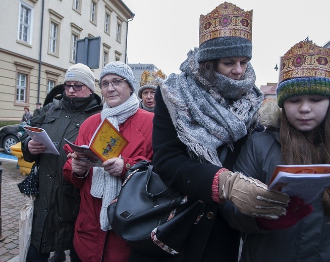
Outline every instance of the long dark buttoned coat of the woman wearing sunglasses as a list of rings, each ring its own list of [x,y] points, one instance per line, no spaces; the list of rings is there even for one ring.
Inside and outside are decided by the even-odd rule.
[[[64,138],[75,141],[80,125],[88,117],[99,113],[102,102],[98,95],[85,98],[54,99],[47,104],[32,126],[46,130],[60,155],[28,151],[30,137],[22,141],[24,159],[39,163],[39,196],[34,202],[31,245],[41,253],[67,250],[73,247],[74,225],[79,212],[79,190],[65,181],[63,166],[67,153]]]

